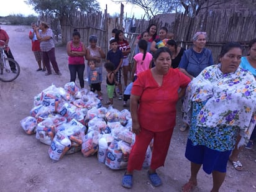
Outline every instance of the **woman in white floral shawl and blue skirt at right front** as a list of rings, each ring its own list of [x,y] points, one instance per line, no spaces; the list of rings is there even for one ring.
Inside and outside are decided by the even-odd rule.
[[[197,186],[201,165],[206,173],[213,174],[211,191],[219,191],[237,135],[241,135],[240,147],[254,129],[256,81],[239,68],[241,57],[239,43],[224,45],[220,63],[205,68],[187,88],[183,120],[190,125],[185,157],[191,162],[191,176],[183,192]]]

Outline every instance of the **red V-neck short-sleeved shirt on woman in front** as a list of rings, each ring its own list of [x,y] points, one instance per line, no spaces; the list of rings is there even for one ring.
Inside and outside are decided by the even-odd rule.
[[[151,70],[140,73],[132,86],[132,94],[140,96],[140,126],[153,132],[173,129],[178,89],[185,88],[190,81],[188,76],[173,68],[163,76],[162,86],[158,86]]]

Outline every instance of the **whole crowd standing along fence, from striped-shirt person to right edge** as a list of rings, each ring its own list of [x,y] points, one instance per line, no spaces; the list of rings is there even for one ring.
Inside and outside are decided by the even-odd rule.
[[[50,36],[48,27],[41,22],[39,29],[35,29],[36,36],[30,35],[32,41],[35,37],[40,41],[43,52],[44,65],[42,68],[39,63],[39,70],[45,66],[50,75],[51,60],[53,69],[60,75],[54,61],[54,49],[51,43],[45,43]],[[86,48],[78,31],[74,31],[66,50],[70,81],[75,81],[77,73],[80,86],[84,88],[85,59],[88,60],[89,85],[91,91],[98,92],[99,99],[102,99],[103,59],[106,58],[104,68],[109,98],[106,104],[113,104],[116,86],[119,99],[122,99],[121,77],[124,75],[124,86],[130,90],[135,143],[122,186],[132,188],[134,170],[141,170],[152,140],[152,160],[147,175],[153,186],[162,185],[157,168],[165,163],[175,127],[176,103],[183,99],[181,110],[185,124],[180,130],[189,129],[185,157],[191,162],[191,176],[182,191],[192,191],[198,185],[197,175],[202,165],[206,173],[213,175],[211,192],[219,191],[226,176],[227,162],[231,161],[235,168],[242,167],[237,160],[239,149],[248,142],[252,145],[254,140],[256,39],[250,41],[249,55],[245,57],[242,57],[243,48],[239,43],[223,45],[218,63],[214,65],[211,50],[205,48],[206,32],[196,32],[192,39],[193,47],[185,50],[178,47],[166,27],[161,27],[157,35],[157,26],[152,24],[135,42],[135,55],[132,55],[134,79],[130,86],[127,78],[130,45],[122,30],[115,29],[113,33],[107,55],[96,45],[95,35],[89,37],[89,47]],[[126,101],[129,99],[124,98]]]

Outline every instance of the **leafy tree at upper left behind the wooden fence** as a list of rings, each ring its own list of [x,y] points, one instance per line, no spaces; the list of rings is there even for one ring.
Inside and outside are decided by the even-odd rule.
[[[25,2],[33,6],[35,12],[40,15],[53,15],[60,21],[61,28],[63,21],[75,11],[87,13],[99,11],[99,3],[96,0],[26,0]],[[63,42],[66,40],[63,39]]]

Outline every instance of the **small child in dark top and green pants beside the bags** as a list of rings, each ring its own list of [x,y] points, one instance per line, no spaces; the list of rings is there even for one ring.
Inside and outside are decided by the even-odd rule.
[[[115,73],[114,73],[114,64],[109,62],[105,63],[104,67],[106,68],[107,71],[107,96],[109,97],[109,101],[106,102],[109,106],[113,105],[113,94],[114,94],[114,89],[115,89]]]

